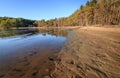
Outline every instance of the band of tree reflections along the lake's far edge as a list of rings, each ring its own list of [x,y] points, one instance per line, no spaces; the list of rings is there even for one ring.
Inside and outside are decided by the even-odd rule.
[[[12,30],[1,30],[0,31],[0,38],[13,38],[13,37],[24,37],[32,36],[35,34],[42,34],[43,36],[46,36],[46,34],[53,35],[53,36],[67,36],[67,31],[64,29],[58,29],[58,28],[28,28],[28,29],[12,29]]]

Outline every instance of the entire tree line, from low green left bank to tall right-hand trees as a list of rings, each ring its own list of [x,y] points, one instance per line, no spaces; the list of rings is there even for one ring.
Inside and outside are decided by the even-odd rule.
[[[69,17],[50,20],[0,17],[0,28],[28,27],[30,25],[37,27],[120,25],[120,0],[90,0]]]

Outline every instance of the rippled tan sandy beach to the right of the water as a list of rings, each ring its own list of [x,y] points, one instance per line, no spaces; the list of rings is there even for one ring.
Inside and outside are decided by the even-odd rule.
[[[55,61],[52,78],[119,78],[120,28],[73,30]]]

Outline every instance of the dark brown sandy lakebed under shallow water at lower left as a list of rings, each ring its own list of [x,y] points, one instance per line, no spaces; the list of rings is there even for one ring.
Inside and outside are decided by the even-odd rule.
[[[9,67],[5,66],[0,71],[0,78],[50,78],[55,67],[53,61],[59,49],[48,47],[40,51],[17,56]]]

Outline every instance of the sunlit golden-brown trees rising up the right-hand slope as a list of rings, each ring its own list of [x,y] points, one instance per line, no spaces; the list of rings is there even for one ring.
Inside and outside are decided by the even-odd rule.
[[[120,0],[90,0],[66,18],[37,21],[38,26],[120,25]]]

